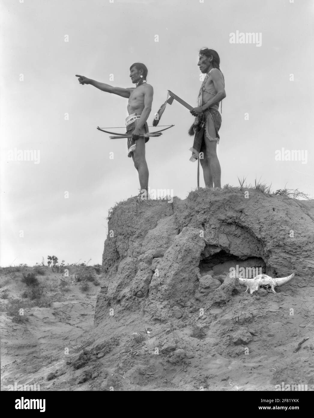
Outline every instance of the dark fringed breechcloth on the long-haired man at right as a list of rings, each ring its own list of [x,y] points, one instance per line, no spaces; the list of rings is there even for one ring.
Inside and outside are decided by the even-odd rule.
[[[211,138],[211,136],[208,133],[209,118],[211,118],[214,122],[215,130],[216,130],[216,138]],[[190,148],[190,151],[192,151],[192,156],[190,158],[190,161],[192,162],[196,161],[199,157],[200,152],[205,153],[206,146],[205,146],[204,135],[206,135],[206,138],[208,138],[208,140],[217,141],[217,144],[219,144],[220,137],[219,137],[218,131],[220,129],[220,126],[221,126],[221,115],[216,107],[211,107],[210,109],[206,110],[203,113],[203,116],[196,117],[194,126],[191,127],[193,128],[193,130],[191,130],[190,128],[190,131],[189,131],[190,135],[193,135],[193,131],[194,131],[193,147]]]

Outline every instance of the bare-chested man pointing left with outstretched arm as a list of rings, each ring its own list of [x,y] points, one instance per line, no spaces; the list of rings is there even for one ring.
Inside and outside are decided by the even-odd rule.
[[[112,87],[109,84],[88,79],[87,77],[76,75],[80,84],[91,84],[103,92],[118,94],[118,96],[128,99],[128,114],[126,118],[126,130],[132,134],[128,138],[128,157],[132,157],[134,166],[138,171],[141,190],[148,190],[148,167],[145,159],[145,143],[148,137],[139,135],[148,133],[147,119],[151,113],[153,102],[153,87],[147,84],[147,68],[144,64],[135,63],[130,67],[130,77],[136,87],[123,89],[121,87]],[[143,195],[143,193],[140,193]]]

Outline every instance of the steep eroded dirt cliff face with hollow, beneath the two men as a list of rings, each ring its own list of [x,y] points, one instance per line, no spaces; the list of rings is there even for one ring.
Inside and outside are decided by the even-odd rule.
[[[173,203],[128,199],[113,209],[108,230],[97,323],[108,303],[136,310],[143,300],[145,311],[168,319],[174,304],[200,299],[198,274],[236,265],[272,277],[294,272],[291,289],[314,273],[313,201],[205,189]],[[201,300],[221,301],[217,292]]]

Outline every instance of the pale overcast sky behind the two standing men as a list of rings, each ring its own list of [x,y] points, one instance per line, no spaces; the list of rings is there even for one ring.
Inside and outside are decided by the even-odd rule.
[[[130,65],[146,64],[151,125],[167,89],[196,106],[198,50],[215,49],[227,95],[221,184],[261,178],[273,190],[313,197],[314,6],[291,1],[2,0],[1,265],[33,265],[47,255],[101,263],[108,209],[138,194],[126,139],[96,130],[122,127],[127,99],[82,86],[75,74],[132,87]],[[257,33],[259,45],[231,43],[236,31]],[[149,186],[181,199],[196,187],[192,122],[173,102],[160,125],[175,127],[146,144]],[[307,150],[306,163],[275,161],[281,148]],[[40,159],[15,161],[15,149],[39,150]]]

